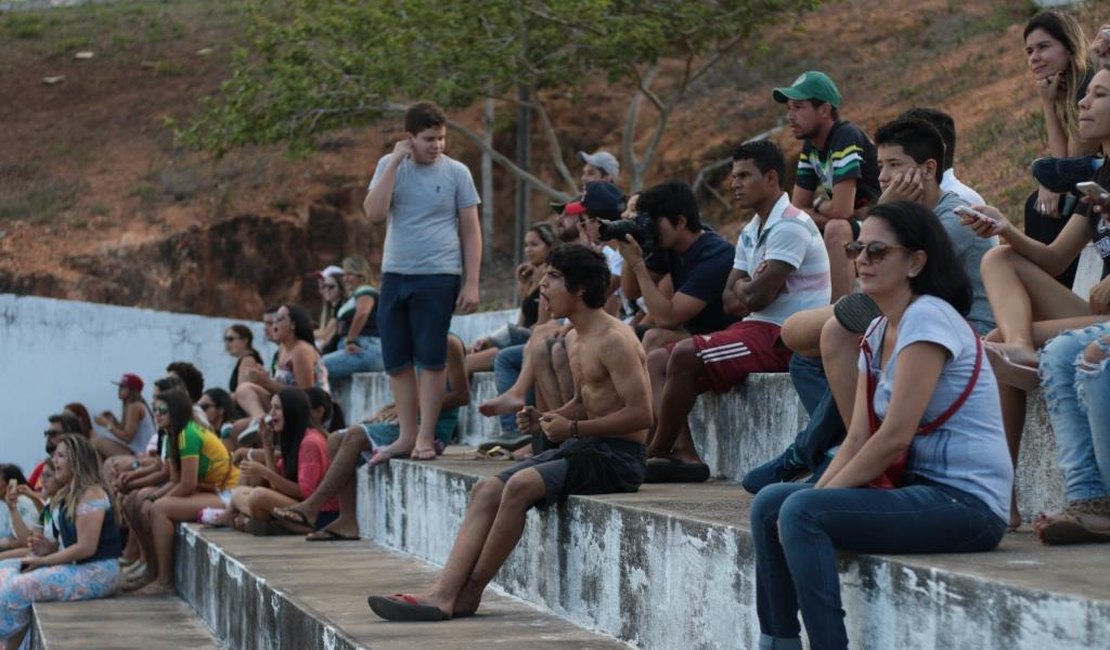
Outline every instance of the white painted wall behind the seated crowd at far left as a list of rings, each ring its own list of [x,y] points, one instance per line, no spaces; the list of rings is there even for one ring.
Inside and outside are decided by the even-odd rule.
[[[205,387],[226,388],[234,359],[223,349],[228,318],[0,294],[0,461],[24,473],[44,456],[47,417],[70,402],[93,415],[120,412],[115,386],[123,373],[153,380],[174,360],[204,373]],[[261,323],[248,323],[269,358]]]

